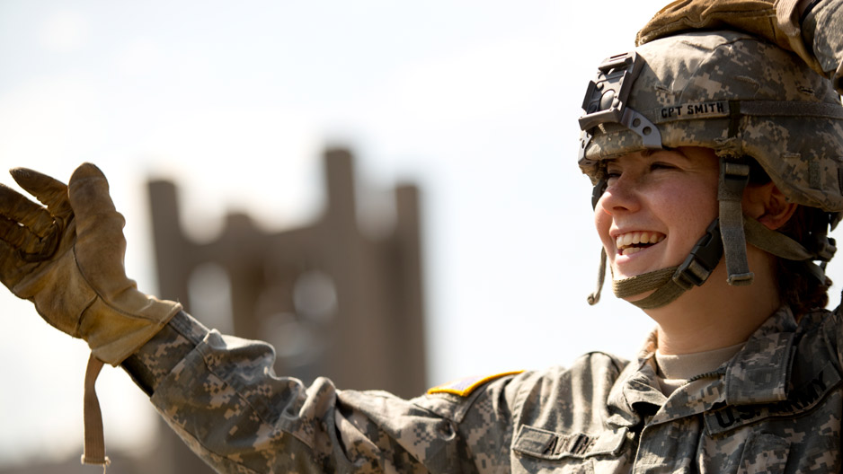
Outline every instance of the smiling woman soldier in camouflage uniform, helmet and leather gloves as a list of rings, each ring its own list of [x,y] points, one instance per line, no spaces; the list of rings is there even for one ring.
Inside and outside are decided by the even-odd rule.
[[[813,262],[843,212],[843,0],[776,6],[679,2],[590,83],[579,163],[601,270],[657,322],[638,360],[591,353],[411,400],[276,377],[268,345],[138,292],[92,164],[67,186],[12,171],[44,207],[0,189],[0,279],[88,342],[87,387],[121,364],[220,472],[839,471],[843,315],[822,309]],[[723,27],[766,40],[685,32]]]

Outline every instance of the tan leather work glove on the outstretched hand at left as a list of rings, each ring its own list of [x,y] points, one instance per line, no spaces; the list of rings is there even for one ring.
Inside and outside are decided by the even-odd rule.
[[[67,186],[37,171],[11,173],[46,207],[0,184],[0,281],[96,358],[120,364],[181,305],[139,292],[126,276],[125,221],[99,168],[84,163]]]

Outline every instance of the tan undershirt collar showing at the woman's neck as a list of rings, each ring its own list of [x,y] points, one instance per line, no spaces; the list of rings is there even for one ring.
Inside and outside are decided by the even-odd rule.
[[[741,350],[743,344],[694,354],[664,355],[656,350],[655,362],[659,386],[666,397],[700,373],[714,371]]]

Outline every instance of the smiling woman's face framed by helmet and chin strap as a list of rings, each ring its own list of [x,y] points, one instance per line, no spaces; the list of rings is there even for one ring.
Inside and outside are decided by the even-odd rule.
[[[594,212],[615,279],[676,267],[718,214],[719,161],[707,148],[637,152],[607,162]]]

